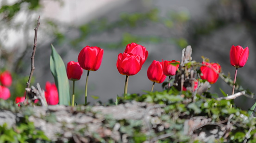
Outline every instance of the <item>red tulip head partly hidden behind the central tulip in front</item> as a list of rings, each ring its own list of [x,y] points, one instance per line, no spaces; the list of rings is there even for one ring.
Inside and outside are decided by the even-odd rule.
[[[149,52],[144,46],[138,45],[136,43],[128,44],[125,48],[125,52],[132,53],[133,55],[139,55],[142,58],[142,64],[145,63],[149,55]]]

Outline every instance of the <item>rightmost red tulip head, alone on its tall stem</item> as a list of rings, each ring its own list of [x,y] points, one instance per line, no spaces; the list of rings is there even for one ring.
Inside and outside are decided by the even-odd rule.
[[[249,48],[243,48],[242,46],[231,46],[230,49],[230,63],[233,67],[244,67],[249,57]]]

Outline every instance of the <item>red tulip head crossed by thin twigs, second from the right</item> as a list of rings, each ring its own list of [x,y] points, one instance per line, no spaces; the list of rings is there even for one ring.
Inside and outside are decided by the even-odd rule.
[[[200,77],[202,80],[207,80],[210,84],[215,83],[219,78],[220,65],[218,63],[202,63]]]

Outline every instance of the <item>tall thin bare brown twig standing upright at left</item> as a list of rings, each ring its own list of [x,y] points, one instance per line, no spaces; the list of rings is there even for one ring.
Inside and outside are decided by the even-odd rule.
[[[37,26],[35,28],[34,46],[33,46],[33,52],[32,52],[32,56],[31,56],[31,71],[30,71],[30,74],[29,74],[28,82],[26,83],[27,88],[29,88],[29,86],[30,86],[31,78],[32,78],[32,75],[33,75],[34,70],[35,70],[34,59],[35,59],[35,53],[36,53],[36,49],[37,49],[37,29],[40,25],[39,20],[40,20],[40,16],[37,19]],[[26,92],[26,98],[27,98],[27,92]]]

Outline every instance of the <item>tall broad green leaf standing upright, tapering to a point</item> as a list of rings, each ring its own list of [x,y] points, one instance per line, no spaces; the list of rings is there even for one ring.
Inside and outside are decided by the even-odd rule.
[[[61,56],[57,53],[54,46],[51,45],[50,71],[54,77],[56,87],[59,93],[59,104],[70,104],[69,80],[66,73],[65,64]]]

